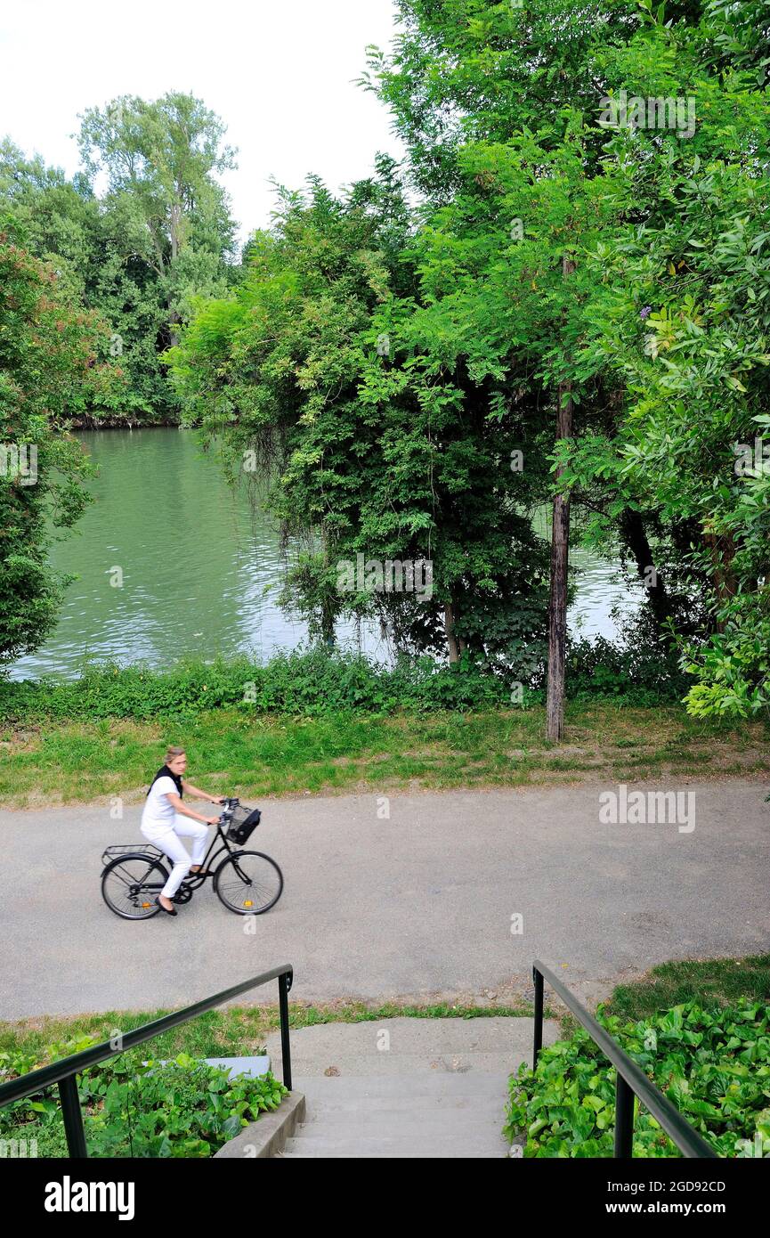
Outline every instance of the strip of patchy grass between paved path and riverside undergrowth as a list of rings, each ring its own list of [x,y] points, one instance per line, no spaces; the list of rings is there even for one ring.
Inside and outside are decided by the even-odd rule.
[[[667,774],[770,773],[768,725],[690,718],[681,706],[573,702],[565,743],[542,707],[321,718],[212,711],[184,723],[100,719],[0,730],[0,806],[139,797],[166,743],[183,743],[193,779],[223,794],[297,796],[634,781]]]

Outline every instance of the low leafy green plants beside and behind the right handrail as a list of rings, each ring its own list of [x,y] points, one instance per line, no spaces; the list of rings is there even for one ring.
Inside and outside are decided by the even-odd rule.
[[[687,1002],[635,1023],[600,1006],[597,1018],[720,1156],[770,1154],[766,1003],[706,1010]],[[511,1077],[505,1133],[525,1138],[527,1158],[612,1156],[614,1109],[614,1068],[578,1028],[541,1051],[535,1073],[522,1065]],[[680,1155],[639,1106],[633,1154]]]

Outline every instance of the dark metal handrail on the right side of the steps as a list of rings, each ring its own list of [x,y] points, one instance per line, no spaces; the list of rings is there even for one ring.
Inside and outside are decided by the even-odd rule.
[[[599,1046],[602,1052],[613,1063],[616,1071],[615,1083],[615,1156],[634,1155],[634,1096],[639,1097],[645,1109],[660,1123],[668,1138],[676,1144],[678,1150],[688,1158],[718,1159],[718,1154],[702,1135],[691,1127],[680,1110],[671,1103],[668,1097],[650,1082],[645,1072],[633,1057],[620,1047],[616,1040],[597,1023],[594,1016],[586,1010],[576,997],[567,989],[553,972],[535,959],[532,966],[535,979],[535,1046],[532,1055],[532,1070],[537,1068],[537,1056],[542,1049],[542,1010],[543,1010],[543,977],[551,988],[560,995],[565,1005],[576,1019],[583,1025],[590,1039]]]

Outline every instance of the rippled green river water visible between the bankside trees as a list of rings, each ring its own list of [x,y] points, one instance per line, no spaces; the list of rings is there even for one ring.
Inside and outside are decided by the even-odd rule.
[[[56,631],[14,678],[74,676],[87,660],[168,666],[182,655],[246,652],[266,660],[306,640],[303,624],[276,602],[279,532],[245,491],[233,493],[197,437],[180,430],[103,430],[79,435],[99,475],[94,503],[56,545],[56,568],[77,574]],[[610,609],[630,595],[614,565],[578,553],[571,619],[613,634]],[[123,573],[123,586],[114,587]],[[355,641],[353,625],[338,631]],[[374,628],[360,644],[386,657]]]

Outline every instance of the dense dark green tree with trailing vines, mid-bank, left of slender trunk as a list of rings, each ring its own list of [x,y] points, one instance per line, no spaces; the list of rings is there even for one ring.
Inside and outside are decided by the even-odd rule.
[[[449,318],[421,303],[411,233],[389,160],[342,201],[318,181],[309,201],[285,192],[243,287],[201,307],[175,371],[236,462],[277,452],[269,505],[307,540],[288,587],[324,639],[343,612],[374,614],[401,647],[537,664],[536,474],[511,468],[529,444],[515,416],[490,416],[494,383],[454,363]],[[359,562],[368,578],[344,583]],[[378,565],[404,563],[423,573],[416,588],[378,586]]]

